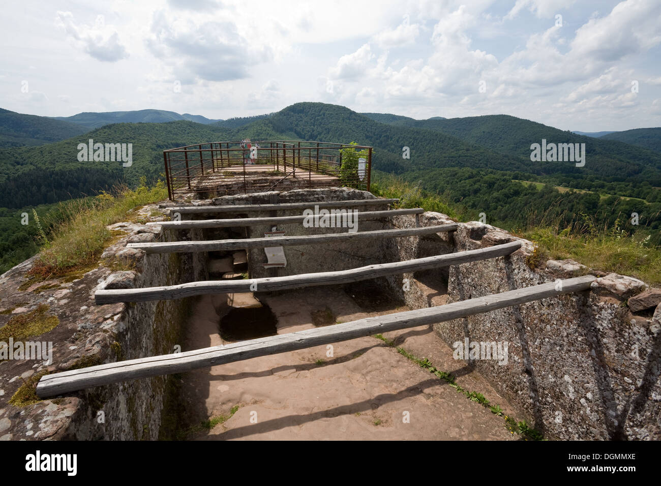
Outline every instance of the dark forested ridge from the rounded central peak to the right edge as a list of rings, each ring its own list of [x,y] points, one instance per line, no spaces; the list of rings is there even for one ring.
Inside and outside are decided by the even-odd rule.
[[[558,181],[563,177],[598,177],[607,182],[635,179],[661,186],[661,157],[654,151],[577,136],[513,116],[414,120],[393,125],[375,122],[344,106],[297,103],[274,114],[268,122],[276,132],[293,132],[303,140],[356,140],[373,145],[378,154],[375,167],[391,173],[424,167],[473,167],[522,171]],[[585,167],[570,162],[531,162],[530,145],[542,139],[586,143]],[[402,158],[403,147],[410,148],[409,160]]]

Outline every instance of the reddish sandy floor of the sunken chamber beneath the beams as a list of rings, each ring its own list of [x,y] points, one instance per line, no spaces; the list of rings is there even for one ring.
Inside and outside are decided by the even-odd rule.
[[[240,297],[240,296],[239,296]],[[235,302],[249,301],[236,298]],[[187,349],[222,344],[219,315],[228,297],[204,296],[188,323]],[[366,311],[340,288],[262,298],[278,318],[278,333],[317,323],[351,321],[407,310]],[[390,307],[393,307],[392,305]],[[331,311],[332,309],[332,311]],[[465,389],[483,393],[507,413],[512,407],[429,326],[387,333],[408,352],[452,372]],[[229,417],[198,440],[503,440],[514,438],[502,417],[473,403],[374,337],[262,356],[183,375],[191,423]],[[408,418],[408,421],[406,420]]]

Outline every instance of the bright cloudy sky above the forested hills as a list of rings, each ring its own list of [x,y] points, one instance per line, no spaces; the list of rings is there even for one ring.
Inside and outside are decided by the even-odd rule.
[[[0,107],[661,126],[661,0],[5,1]]]

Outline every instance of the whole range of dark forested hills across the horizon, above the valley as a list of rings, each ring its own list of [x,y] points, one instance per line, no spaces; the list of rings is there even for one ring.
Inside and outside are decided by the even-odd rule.
[[[406,117],[403,117],[406,118]],[[551,182],[641,198],[661,186],[661,154],[622,142],[586,138],[512,116],[399,120],[384,124],[333,104],[297,103],[274,114],[194,122],[112,124],[42,147],[0,149],[0,207],[19,208],[90,194],[118,179],[135,184],[163,172],[163,149],[218,140],[321,140],[373,145],[373,167],[393,174],[430,169],[492,169],[508,179]],[[410,126],[409,126],[410,125]],[[233,128],[235,127],[235,128]],[[79,162],[78,143],[132,143],[133,165]],[[531,162],[530,144],[586,143],[585,167]],[[403,157],[404,147],[410,158]]]

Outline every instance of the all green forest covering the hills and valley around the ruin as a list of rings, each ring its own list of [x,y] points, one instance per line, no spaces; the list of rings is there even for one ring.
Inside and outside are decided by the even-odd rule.
[[[20,224],[22,213],[32,218],[36,208],[47,231],[58,220],[53,206],[58,201],[92,196],[118,182],[136,187],[143,176],[154,184],[163,177],[164,149],[245,137],[371,145],[375,177],[395,177],[438,194],[448,205],[461,208],[457,212],[463,219],[476,220],[485,213],[488,223],[510,230],[582,219],[627,233],[642,231],[659,244],[661,153],[653,148],[661,140],[660,129],[616,132],[611,135],[626,135],[605,140],[506,115],[414,120],[316,102],[212,124],[119,123],[73,136],[67,135],[71,122],[59,123],[66,129],[58,132],[46,121],[34,127],[46,127],[40,136],[56,139],[51,143],[0,147],[0,272],[36,252],[38,235],[34,225]],[[38,134],[19,125],[12,130]],[[78,161],[77,145],[89,139],[132,143],[132,166]],[[532,162],[530,145],[542,139],[585,143],[586,165]],[[404,147],[410,151],[408,159],[403,158]]]

